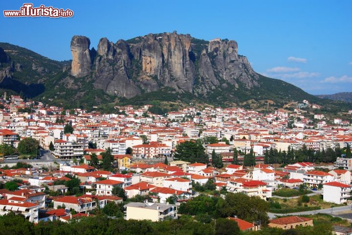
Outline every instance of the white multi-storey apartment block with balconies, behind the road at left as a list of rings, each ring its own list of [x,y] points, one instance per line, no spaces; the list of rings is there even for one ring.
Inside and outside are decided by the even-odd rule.
[[[83,156],[83,145],[65,140],[56,140],[52,154],[60,159],[77,159]]]

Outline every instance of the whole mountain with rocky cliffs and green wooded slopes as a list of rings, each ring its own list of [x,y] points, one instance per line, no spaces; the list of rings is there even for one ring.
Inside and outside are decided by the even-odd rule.
[[[248,108],[282,107],[304,99],[326,103],[294,85],[256,73],[238,54],[233,40],[205,41],[173,32],[116,43],[102,38],[96,50],[89,46],[88,38],[74,36],[72,61],[57,62],[0,43],[4,49],[0,87],[66,108],[159,103],[162,97],[173,97],[170,102],[176,104]]]

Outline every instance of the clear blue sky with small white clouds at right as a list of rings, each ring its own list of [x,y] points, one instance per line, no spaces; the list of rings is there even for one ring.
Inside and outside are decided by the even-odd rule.
[[[72,18],[6,18],[23,3],[70,9]],[[90,47],[173,32],[238,42],[254,70],[310,94],[352,91],[352,0],[34,0],[1,1],[0,42],[70,60],[73,35]]]

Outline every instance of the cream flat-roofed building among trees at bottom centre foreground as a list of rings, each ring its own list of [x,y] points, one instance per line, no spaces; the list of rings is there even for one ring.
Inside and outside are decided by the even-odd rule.
[[[144,220],[154,222],[177,218],[177,206],[164,203],[130,202],[125,205],[126,219]]]

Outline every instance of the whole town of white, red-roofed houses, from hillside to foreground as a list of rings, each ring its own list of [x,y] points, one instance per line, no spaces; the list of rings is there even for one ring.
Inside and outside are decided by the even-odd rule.
[[[219,191],[242,192],[262,199],[270,198],[278,187],[296,188],[301,184],[321,188],[325,201],[341,204],[350,197],[352,160],[346,158],[339,158],[335,163],[341,170],[329,172],[314,170],[312,163],[291,164],[283,171],[276,171],[266,164],[257,164],[253,169],[227,164],[223,169],[216,169],[184,161],[172,161],[169,165],[142,162],[143,159],[170,158],[177,144],[207,136],[227,139],[228,142],[205,145],[206,153],[222,154],[225,162],[232,161],[234,148],[243,152],[252,149],[256,156],[263,156],[270,149],[297,150],[304,145],[315,151],[343,148],[352,146],[352,128],[346,121],[334,120],[333,125],[328,125],[324,116],[316,114],[315,118],[320,121],[314,123],[298,108],[293,113],[279,109],[263,114],[242,108],[197,110],[189,107],[156,115],[150,113],[150,106],[146,105],[138,109],[115,107],[119,114],[102,114],[23,102],[18,96],[11,96],[8,101],[3,98],[0,144],[17,147],[19,137],[32,137],[47,150],[52,143],[51,154],[56,158],[82,159],[84,164],[61,164],[58,171],[46,174],[36,169],[0,169],[3,182],[13,179],[23,182],[18,191],[0,190],[0,214],[15,211],[36,223],[90,216],[89,211],[103,208],[108,202],[121,202],[122,198],[113,193],[115,187],[120,187],[129,198],[148,196],[144,203],[127,204],[126,218],[159,221],[175,218],[177,205],[197,196],[192,184],[204,185],[209,179]],[[26,107],[31,107],[32,112],[18,112]],[[289,120],[293,120],[292,129],[287,126]],[[65,123],[73,127],[73,133],[64,133]],[[96,149],[88,149],[89,144],[95,144]],[[98,161],[102,161],[101,153],[108,148],[118,169],[133,173],[99,171],[92,167],[91,154],[95,153]],[[66,174],[79,178],[82,192],[86,190],[86,193],[64,196],[68,188],[54,182],[70,180]],[[61,196],[46,197],[46,188],[58,191]],[[168,204],[171,196],[176,197],[176,204]],[[49,202],[53,203],[54,210],[46,210]],[[70,213],[72,210],[77,214]]]

